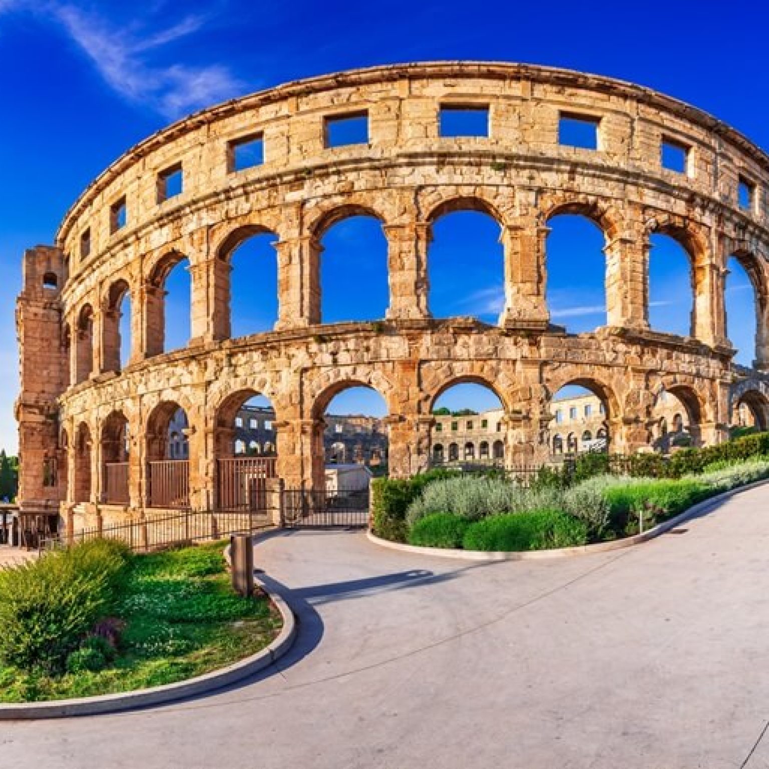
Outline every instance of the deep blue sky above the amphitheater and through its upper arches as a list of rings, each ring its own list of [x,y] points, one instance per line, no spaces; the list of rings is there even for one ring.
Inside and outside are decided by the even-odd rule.
[[[394,0],[386,6],[0,0],[0,365],[5,384],[0,388],[0,447],[13,450],[16,444],[13,306],[22,251],[52,242],[58,222],[85,185],[168,122],[295,78],[391,62],[471,58],[564,66],[648,85],[714,113],[766,148],[769,121],[763,105],[769,104],[769,78],[760,73],[766,69],[767,22],[769,11],[761,5],[752,6],[747,18],[723,2],[647,2],[643,8],[552,2],[544,8],[490,0],[474,12],[455,0]],[[365,315],[381,308],[385,297],[373,279],[381,258],[376,226],[350,221],[327,237],[327,285],[341,290],[333,280],[335,269],[348,268],[351,251],[363,253],[365,260],[355,264],[361,275],[368,271],[372,290],[361,292],[360,305],[349,312]],[[447,314],[486,318],[498,311],[495,237],[494,223],[479,216],[458,215],[438,223],[432,256],[446,272],[433,276],[436,314],[441,307]],[[574,258],[598,265],[597,252],[584,245],[589,241],[586,225],[558,223],[550,238],[550,254],[560,265],[551,265],[548,288],[554,321],[574,331],[594,328],[601,323],[601,281],[588,278],[593,270],[574,278],[570,269]],[[680,304],[681,275],[664,258],[666,249],[669,261],[676,261],[669,244],[655,248],[652,318],[678,327],[685,325],[688,308]],[[458,260],[469,252],[483,257],[473,275],[463,278],[462,291],[452,293]],[[258,263],[258,284],[274,283],[274,267],[265,266],[268,245],[249,243],[242,257],[248,265],[245,275]],[[661,266],[654,264],[657,257]],[[744,275],[734,273],[729,288],[734,300],[730,326],[737,330],[733,341],[742,349],[741,360],[748,360]],[[333,291],[328,288],[330,304],[324,308],[329,320],[341,319],[335,317]],[[275,309],[257,296],[235,301],[236,313],[245,313],[245,325],[265,322]],[[172,337],[184,337],[183,329],[173,331]]]

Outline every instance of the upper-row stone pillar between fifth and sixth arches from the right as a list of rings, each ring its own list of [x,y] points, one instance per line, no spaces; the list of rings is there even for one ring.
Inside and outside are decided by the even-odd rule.
[[[278,253],[278,323],[276,329],[304,328],[321,322],[320,257],[315,235],[275,244]]]

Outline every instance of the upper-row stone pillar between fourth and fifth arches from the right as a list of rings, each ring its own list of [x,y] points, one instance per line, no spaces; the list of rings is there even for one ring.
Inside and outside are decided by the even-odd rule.
[[[389,320],[429,317],[427,252],[432,235],[426,222],[384,225],[388,241]]]

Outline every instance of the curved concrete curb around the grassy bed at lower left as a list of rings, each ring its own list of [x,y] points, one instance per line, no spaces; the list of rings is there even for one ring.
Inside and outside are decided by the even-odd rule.
[[[225,552],[225,558],[228,553]],[[278,638],[257,654],[246,657],[228,667],[211,671],[187,681],[156,686],[151,689],[126,691],[119,694],[101,694],[98,697],[79,697],[72,700],[52,700],[47,702],[0,703],[0,721],[14,721],[35,718],[63,718],[68,716],[92,716],[118,711],[134,710],[161,703],[179,700],[184,697],[199,697],[217,689],[235,684],[243,678],[258,673],[282,657],[296,638],[296,619],[294,612],[278,594],[271,592],[260,580],[256,580],[268,598],[275,604],[283,619]]]

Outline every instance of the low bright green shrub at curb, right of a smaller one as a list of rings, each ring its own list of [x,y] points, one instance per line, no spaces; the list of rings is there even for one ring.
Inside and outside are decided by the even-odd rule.
[[[560,511],[494,515],[468,526],[462,544],[466,550],[529,551],[585,544],[584,522]]]

